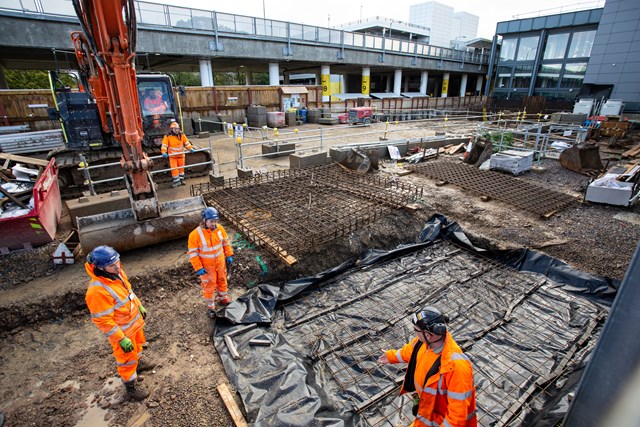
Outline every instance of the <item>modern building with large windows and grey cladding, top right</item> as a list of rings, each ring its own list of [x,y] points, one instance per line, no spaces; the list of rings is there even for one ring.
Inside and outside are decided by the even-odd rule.
[[[639,20],[640,1],[607,0],[604,8],[499,22],[485,93],[514,101],[615,98],[637,111]]]

